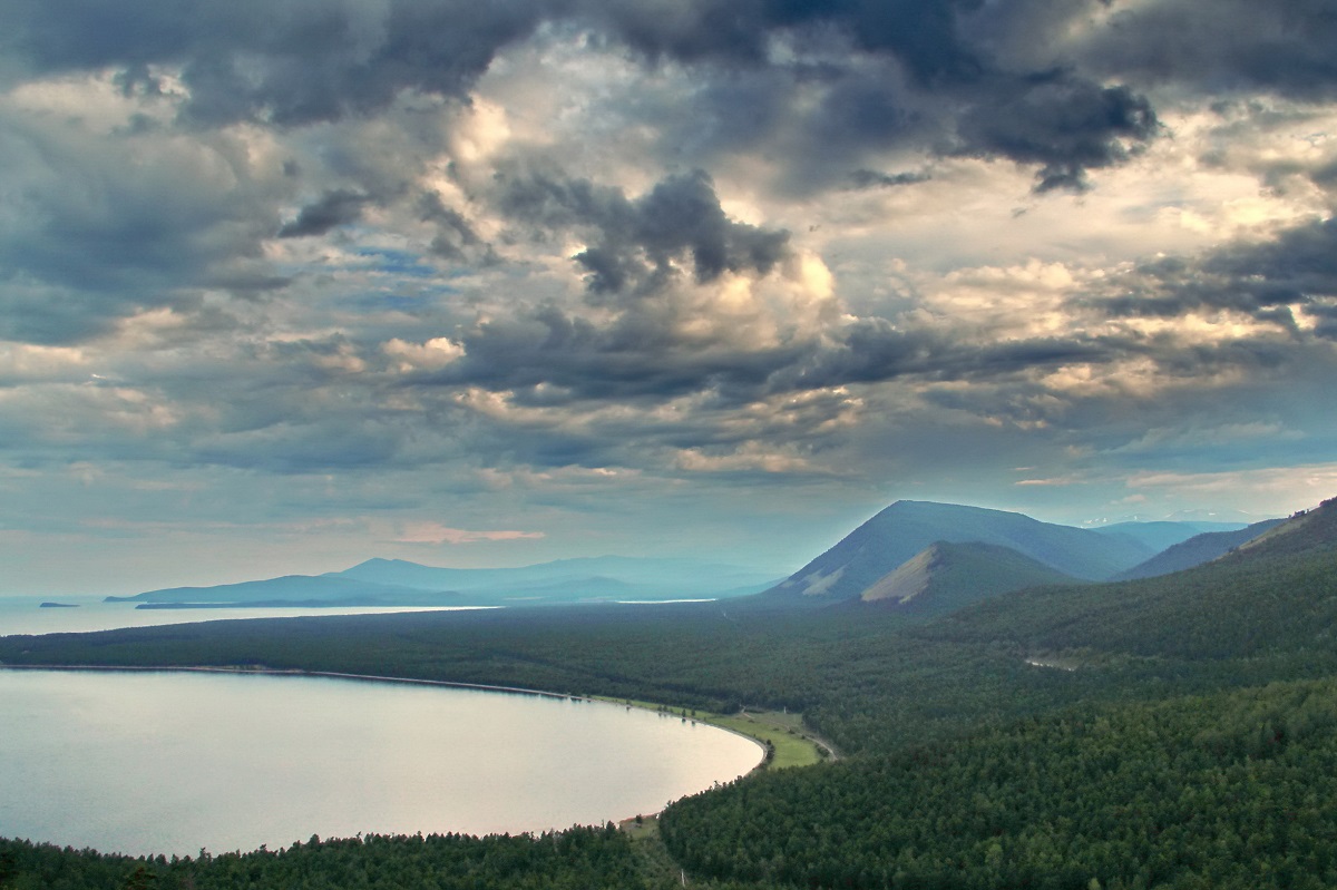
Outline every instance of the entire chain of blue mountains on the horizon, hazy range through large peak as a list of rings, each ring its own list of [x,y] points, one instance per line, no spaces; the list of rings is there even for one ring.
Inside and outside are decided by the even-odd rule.
[[[1148,577],[1215,559],[1275,523],[1118,523],[1082,529],[1004,510],[897,501],[789,579],[691,559],[600,556],[459,569],[372,559],[341,572],[107,597],[140,608],[559,605],[745,600],[869,603],[921,615],[1043,584]],[[778,573],[777,573],[778,575]]]

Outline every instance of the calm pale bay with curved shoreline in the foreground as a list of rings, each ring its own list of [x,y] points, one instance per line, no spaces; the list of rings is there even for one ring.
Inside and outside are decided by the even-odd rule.
[[[602,825],[762,756],[623,706],[324,678],[8,670],[0,712],[0,835],[132,855]]]

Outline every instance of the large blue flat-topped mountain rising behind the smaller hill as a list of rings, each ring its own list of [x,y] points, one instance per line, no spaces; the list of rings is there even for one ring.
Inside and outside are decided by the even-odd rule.
[[[1083,580],[1107,579],[1155,553],[1130,536],[1054,525],[1021,513],[896,501],[763,596],[812,604],[857,599],[939,541],[1007,547]]]

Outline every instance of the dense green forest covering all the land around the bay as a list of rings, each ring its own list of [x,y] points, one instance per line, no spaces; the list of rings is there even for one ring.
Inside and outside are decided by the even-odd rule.
[[[262,665],[711,710],[783,706],[854,755],[753,775],[666,811],[667,849],[698,881],[1332,886],[1334,603],[1337,505],[1328,502],[1186,572],[1035,588],[933,620],[876,604],[793,613],[731,601],[234,621],[7,637],[0,661]],[[644,846],[610,857],[635,865]],[[27,846],[5,855],[19,853],[23,862],[75,855]],[[195,875],[139,865],[168,882],[154,886]],[[19,882],[32,867],[0,865],[11,875],[0,886],[29,886]],[[551,862],[527,874],[567,879]],[[480,873],[472,886],[523,885]]]

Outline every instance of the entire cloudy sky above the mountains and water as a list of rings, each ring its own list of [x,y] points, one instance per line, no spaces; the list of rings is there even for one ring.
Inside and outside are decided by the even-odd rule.
[[[0,595],[1337,494],[1332,0],[8,0]]]

